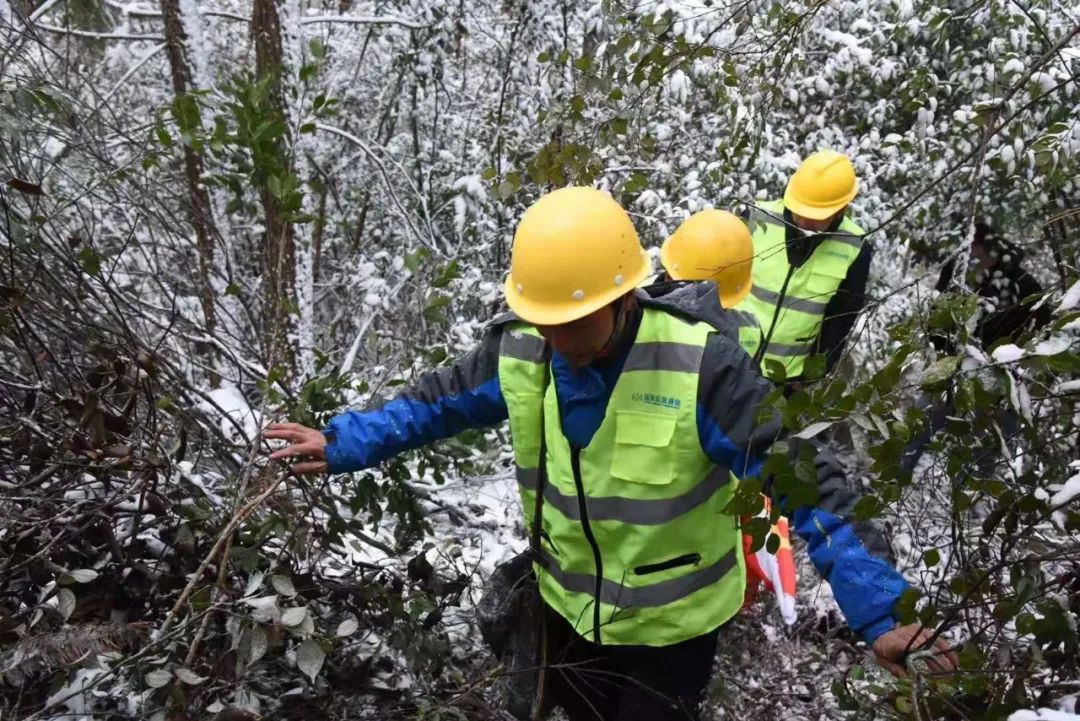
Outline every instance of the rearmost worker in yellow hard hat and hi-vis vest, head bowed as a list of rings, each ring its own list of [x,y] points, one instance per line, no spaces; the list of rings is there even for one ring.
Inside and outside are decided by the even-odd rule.
[[[761,325],[766,366],[798,381],[811,355],[826,370],[843,352],[865,301],[873,246],[848,217],[859,181],[851,161],[820,150],[799,165],[782,201],[751,214],[754,283],[740,308]]]

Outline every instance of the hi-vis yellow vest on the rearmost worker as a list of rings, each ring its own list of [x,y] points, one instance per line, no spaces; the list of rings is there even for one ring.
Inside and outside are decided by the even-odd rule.
[[[765,203],[761,208],[777,217],[784,215],[781,201]],[[784,366],[788,378],[799,376],[821,332],[825,307],[847,277],[851,263],[859,257],[863,230],[845,218],[840,232],[825,239],[810,258],[794,271],[787,262],[783,225],[762,213],[755,213],[751,218],[751,230],[754,235],[754,285],[746,299],[739,303],[739,309],[753,313],[769,339],[762,365],[766,358],[772,358]],[[783,307],[777,313],[782,290]]]

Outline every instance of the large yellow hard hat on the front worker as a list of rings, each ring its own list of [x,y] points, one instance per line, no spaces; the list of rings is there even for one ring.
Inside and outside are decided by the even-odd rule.
[[[595,188],[562,188],[517,223],[503,291],[523,321],[561,325],[631,293],[648,274],[649,258],[622,206]]]

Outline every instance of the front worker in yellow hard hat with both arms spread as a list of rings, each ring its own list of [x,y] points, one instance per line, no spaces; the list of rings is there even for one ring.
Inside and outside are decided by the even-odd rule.
[[[507,676],[546,669],[518,718],[543,718],[552,704],[571,721],[697,718],[719,627],[744,600],[740,526],[725,508],[781,427],[759,420],[771,384],[678,294],[637,289],[648,272],[610,195],[551,192],[514,234],[513,313],[472,352],[323,431],[284,423],[264,434],[288,443],[271,458],[302,459],[297,473],[349,473],[509,420],[530,540],[512,585],[536,589],[543,642]],[[852,627],[902,672],[896,664],[929,631],[896,625],[907,584],[888,544],[848,520],[853,499],[835,460],[819,467],[828,468],[818,494],[827,505],[785,509]],[[934,658],[954,663],[947,651]]]

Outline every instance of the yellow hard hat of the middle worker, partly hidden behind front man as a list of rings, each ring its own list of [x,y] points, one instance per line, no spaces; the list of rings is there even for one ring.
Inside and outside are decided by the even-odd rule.
[[[676,281],[714,281],[724,307],[734,308],[750,293],[754,242],[735,214],[701,210],[664,241],[660,262]]]

